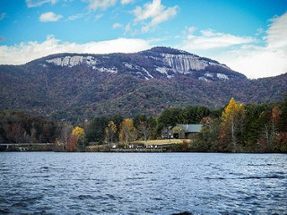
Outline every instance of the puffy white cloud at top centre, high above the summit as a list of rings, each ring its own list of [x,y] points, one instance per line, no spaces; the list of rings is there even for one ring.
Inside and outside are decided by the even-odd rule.
[[[149,31],[152,27],[165,22],[176,16],[178,6],[166,8],[161,4],[161,0],[153,0],[152,3],[137,6],[133,11],[135,22],[147,22],[143,24],[142,31]]]

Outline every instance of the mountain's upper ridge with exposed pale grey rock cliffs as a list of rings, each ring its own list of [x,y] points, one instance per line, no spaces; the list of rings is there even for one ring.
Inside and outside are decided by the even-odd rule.
[[[153,47],[135,54],[60,54],[48,56],[39,63],[44,67],[52,64],[62,67],[86,66],[100,73],[128,73],[145,80],[170,79],[177,75],[189,75],[203,82],[246,79],[225,64],[170,47]]]

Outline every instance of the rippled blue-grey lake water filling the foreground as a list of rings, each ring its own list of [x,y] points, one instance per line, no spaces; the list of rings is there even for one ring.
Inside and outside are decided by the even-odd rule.
[[[0,214],[287,214],[287,155],[0,153]]]

